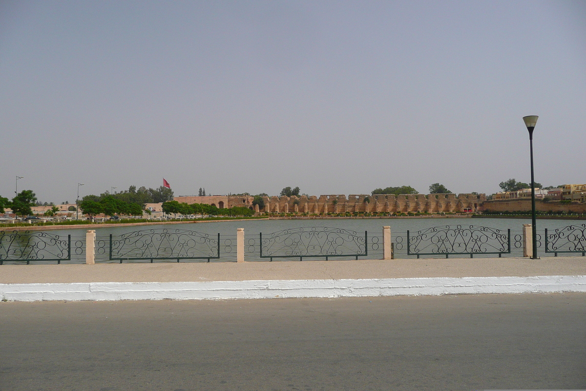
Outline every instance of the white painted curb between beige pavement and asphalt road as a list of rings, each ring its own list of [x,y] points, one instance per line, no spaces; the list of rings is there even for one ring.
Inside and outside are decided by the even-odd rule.
[[[0,297],[9,301],[202,300],[554,292],[586,292],[586,276],[0,284]]]

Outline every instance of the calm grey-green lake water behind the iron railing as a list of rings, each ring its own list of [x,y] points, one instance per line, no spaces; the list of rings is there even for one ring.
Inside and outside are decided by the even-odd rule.
[[[264,237],[272,232],[285,230],[297,227],[333,227],[338,229],[345,229],[355,231],[357,235],[364,236],[364,231],[368,232],[369,243],[369,259],[380,259],[383,256],[382,249],[382,231],[383,226],[391,227],[391,234],[393,243],[395,243],[395,257],[396,258],[414,258],[415,256],[407,255],[406,237],[407,230],[410,231],[411,237],[417,234],[418,230],[425,230],[436,226],[457,226],[461,225],[466,228],[473,226],[485,226],[492,229],[498,229],[506,234],[507,229],[511,230],[511,254],[503,254],[503,257],[523,256],[523,249],[521,243],[523,224],[531,223],[530,218],[522,219],[498,219],[498,218],[406,218],[406,219],[307,219],[307,220],[239,220],[226,222],[202,222],[189,223],[178,225],[153,225],[153,226],[125,226],[125,227],[111,227],[107,225],[96,226],[96,241],[97,241],[97,262],[115,262],[108,260],[109,237],[110,234],[120,236],[135,232],[138,230],[151,229],[166,229],[169,232],[175,230],[192,230],[205,234],[211,237],[217,237],[220,234],[220,261],[235,261],[236,260],[236,230],[237,228],[244,228],[244,243],[245,243],[245,259],[247,261],[261,260],[259,256],[259,233],[263,233]],[[537,233],[543,237],[544,229],[553,230],[568,225],[581,225],[584,220],[537,220]],[[72,259],[71,261],[63,261],[62,263],[84,263],[84,242],[87,229],[60,229],[49,230],[47,233],[59,235],[66,238],[71,235]],[[541,239],[540,237],[540,239]],[[540,257],[552,256],[553,254],[544,253],[544,243],[540,241],[540,249],[538,254]],[[496,255],[486,255],[484,257],[495,257]],[[428,257],[428,256],[426,256]],[[445,256],[442,256],[445,257]],[[456,257],[456,256],[451,256]],[[469,257],[467,255],[460,257]],[[475,255],[475,257],[483,257],[482,255]],[[318,258],[321,259],[321,258]],[[267,259],[263,259],[267,260]],[[279,260],[295,260],[279,259]],[[298,260],[298,258],[297,258]],[[169,260],[172,262],[173,260]],[[187,261],[187,260],[186,260]],[[201,260],[199,260],[201,261]],[[204,260],[205,261],[205,260]],[[8,264],[8,262],[6,263]]]

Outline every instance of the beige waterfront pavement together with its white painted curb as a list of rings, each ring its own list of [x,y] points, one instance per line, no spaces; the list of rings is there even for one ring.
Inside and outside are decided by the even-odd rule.
[[[188,300],[586,292],[586,257],[5,265],[0,297]]]

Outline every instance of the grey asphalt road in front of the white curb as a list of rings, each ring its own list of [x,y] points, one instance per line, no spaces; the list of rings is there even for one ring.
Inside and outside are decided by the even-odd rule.
[[[586,294],[0,302],[0,389],[586,389]]]

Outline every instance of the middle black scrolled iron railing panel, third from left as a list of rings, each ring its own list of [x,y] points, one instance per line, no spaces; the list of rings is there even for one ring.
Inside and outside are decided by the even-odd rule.
[[[299,227],[260,237],[260,257],[304,258],[358,257],[368,255],[368,233],[332,227]]]

